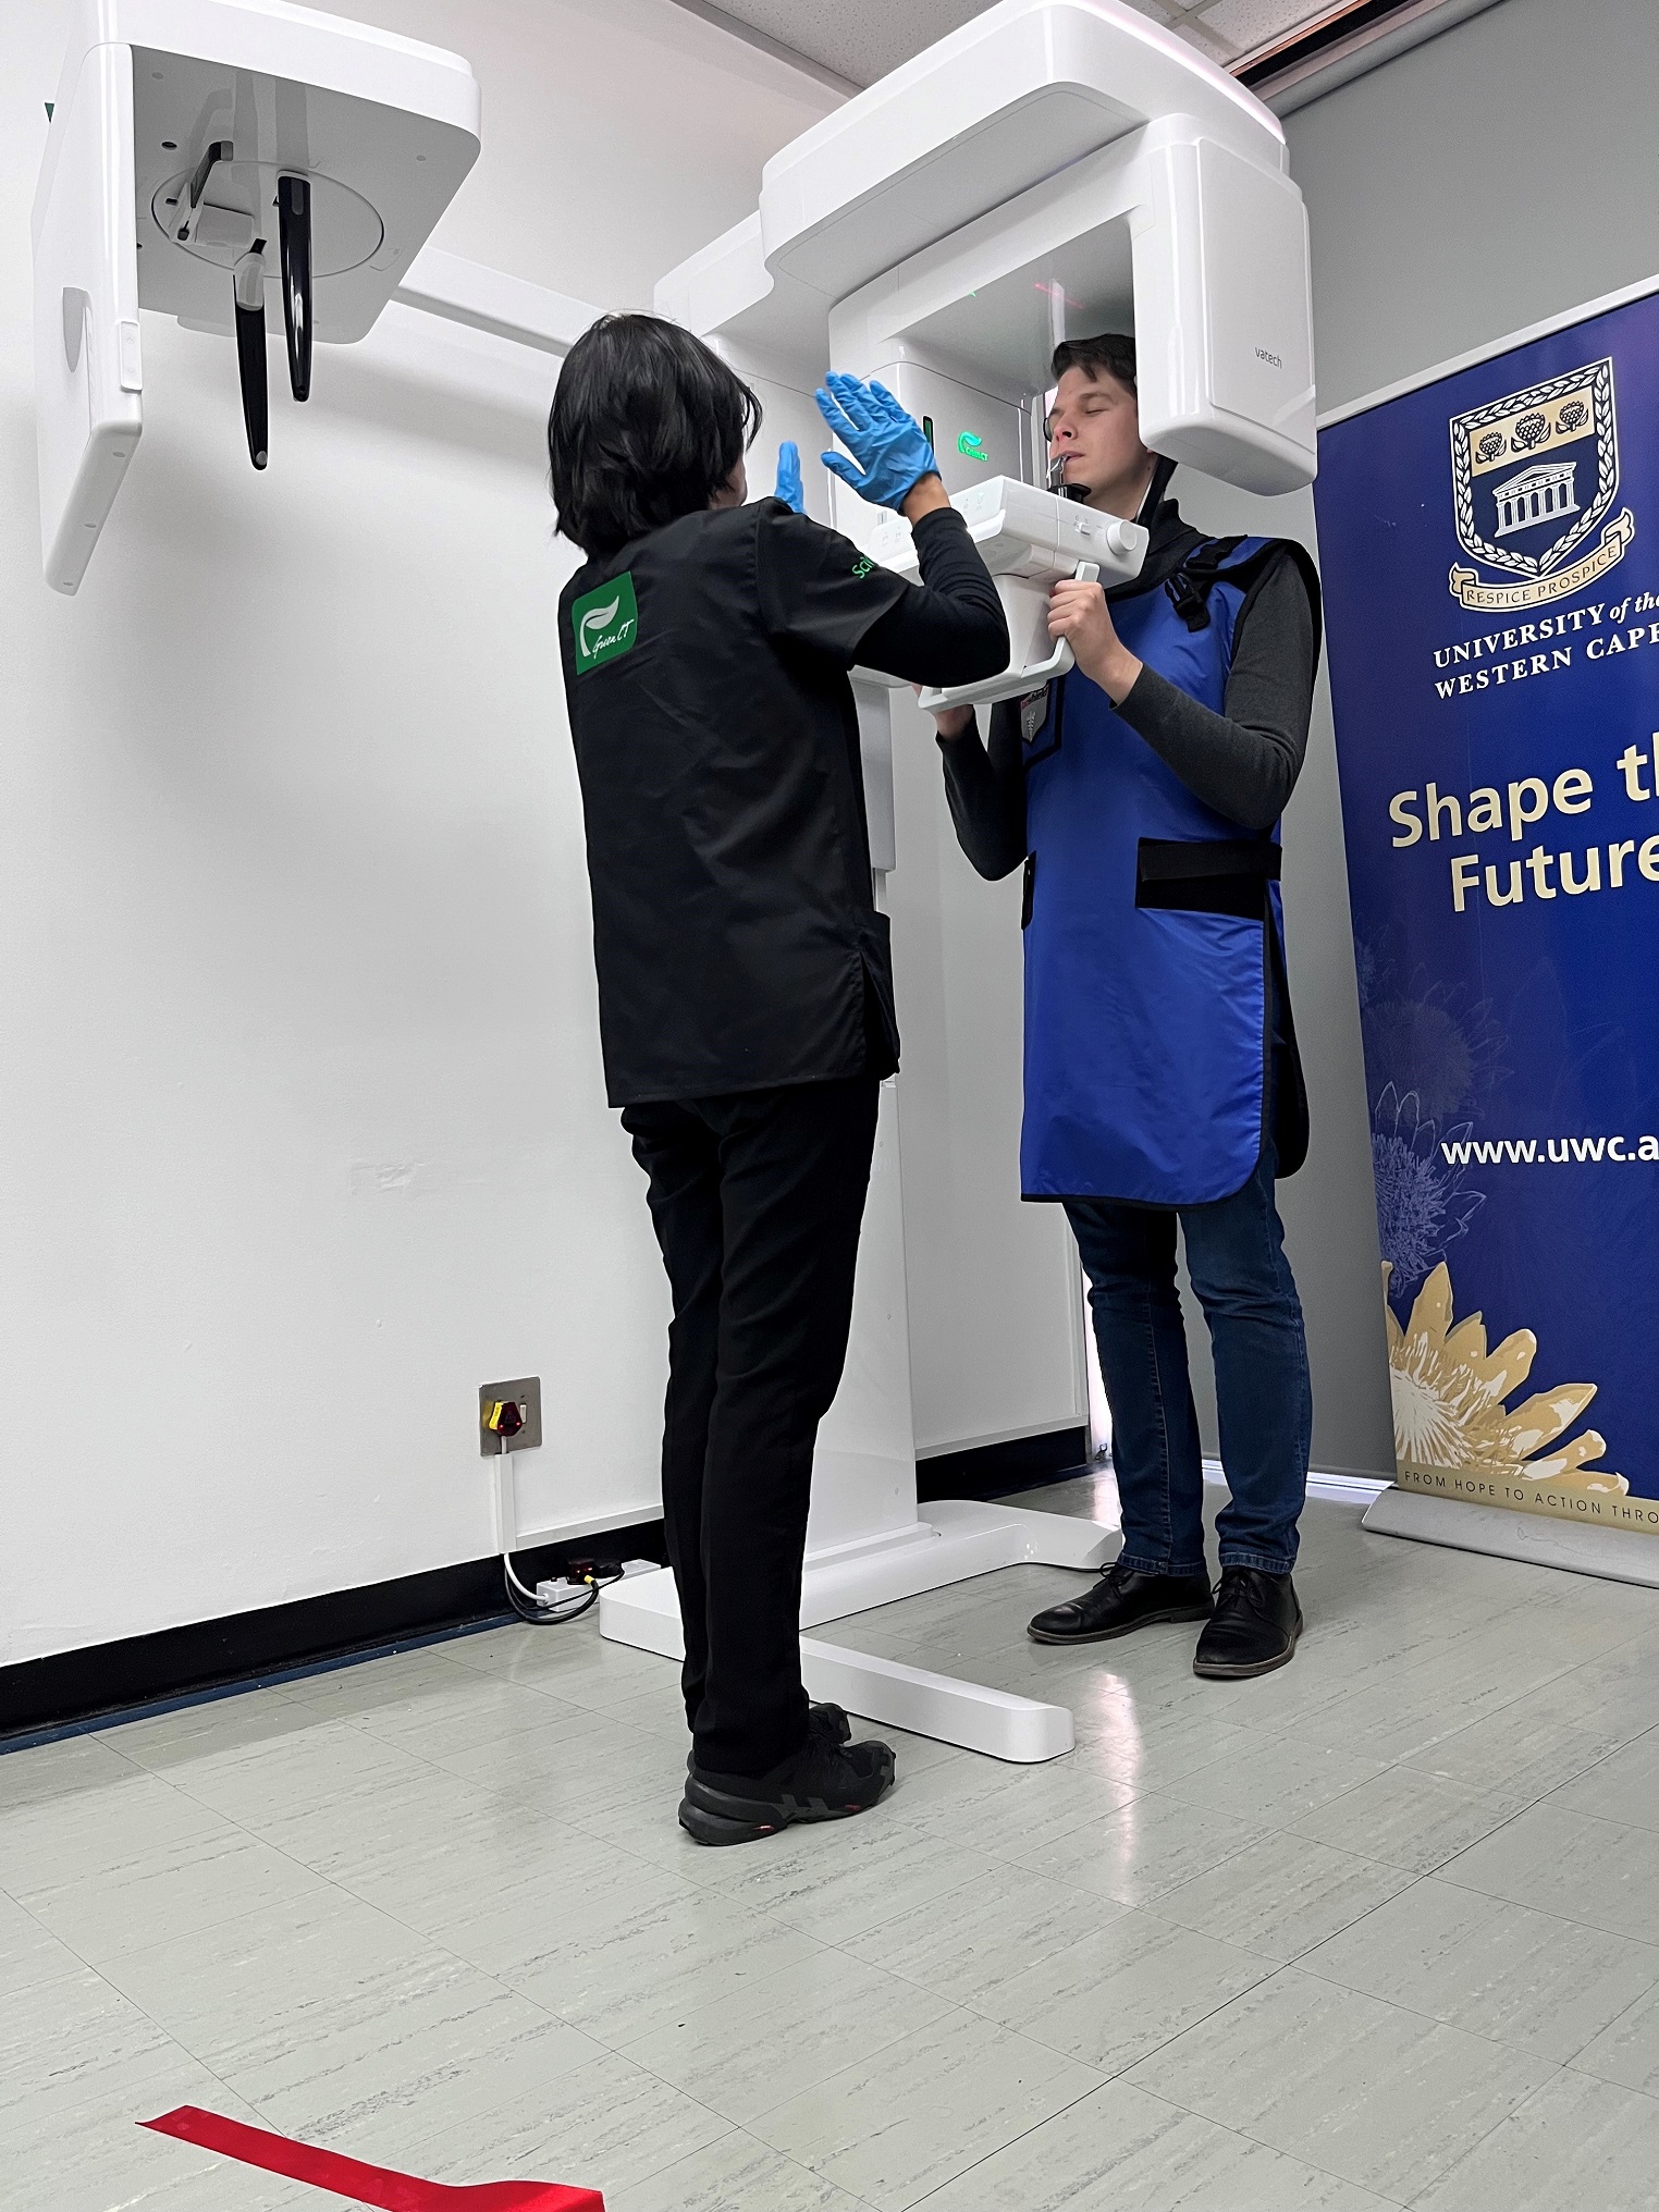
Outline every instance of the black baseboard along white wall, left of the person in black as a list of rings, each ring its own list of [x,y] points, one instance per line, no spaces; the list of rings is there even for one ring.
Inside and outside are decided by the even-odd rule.
[[[666,1562],[661,1522],[513,1553],[513,1566],[533,1584],[571,1559],[593,1557]],[[476,1635],[509,1619],[502,1562],[491,1557],[24,1659],[0,1668],[0,1752]]]

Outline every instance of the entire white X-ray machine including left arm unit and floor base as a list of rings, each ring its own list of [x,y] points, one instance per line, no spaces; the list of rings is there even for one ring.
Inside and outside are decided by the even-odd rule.
[[[478,84],[453,53],[283,0],[77,0],[33,208],[55,591],[80,588],[139,442],[142,307],[234,338],[254,467],[270,449],[268,316],[296,400],[314,341],[363,338],[389,301],[571,349],[597,307],[425,243],[476,153]],[[825,367],[880,376],[927,425],[1013,639],[1002,675],[951,699],[1064,675],[1048,586],[1124,582],[1146,555],[1137,524],[1048,489],[1048,358],[1066,334],[1135,332],[1155,451],[1250,491],[1314,476],[1307,226],[1283,133],[1115,0],[1002,0],[872,84],[768,161],[759,210],[668,274],[657,310],[719,347],[803,453],[823,445],[812,394]],[[872,560],[914,566],[900,518],[818,467],[805,489]],[[885,880],[898,863],[894,692],[854,672],[854,695]],[[509,1548],[551,1533],[518,1533],[507,1498]],[[818,1438],[801,1626],[1020,1562],[1099,1566],[1113,1535],[1015,1506],[918,1509],[889,1082],[847,1371]],[[672,1577],[608,1588],[599,1626],[679,1657]],[[816,1637],[801,1652],[812,1697],[867,1719],[1011,1761],[1071,1750],[1062,1705]]]

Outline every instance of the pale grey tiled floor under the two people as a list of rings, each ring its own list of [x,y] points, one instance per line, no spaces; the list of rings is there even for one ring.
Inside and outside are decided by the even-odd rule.
[[[739,1851],[588,1621],[0,1759],[0,2199],[332,2201],[133,2126],[204,2104],[611,2212],[1650,2208],[1659,1599],[1332,1502],[1298,1579],[1239,1686],[1029,1644],[1051,1571],[865,1615],[1077,1752]]]

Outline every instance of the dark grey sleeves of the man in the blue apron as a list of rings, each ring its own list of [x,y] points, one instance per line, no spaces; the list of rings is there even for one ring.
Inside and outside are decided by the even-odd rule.
[[[1186,787],[1259,836],[1285,812],[1307,752],[1316,633],[1301,568],[1285,553],[1250,586],[1232,630],[1223,712],[1214,714],[1155,668],[1141,668],[1117,712]],[[1006,876],[1031,849],[1015,703],[940,737],[945,790],[962,852],[982,876]]]

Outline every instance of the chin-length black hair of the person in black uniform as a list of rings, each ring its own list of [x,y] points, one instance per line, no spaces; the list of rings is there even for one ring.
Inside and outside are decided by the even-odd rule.
[[[546,418],[560,535],[591,560],[708,507],[761,427],[750,387],[679,323],[606,314]]]

